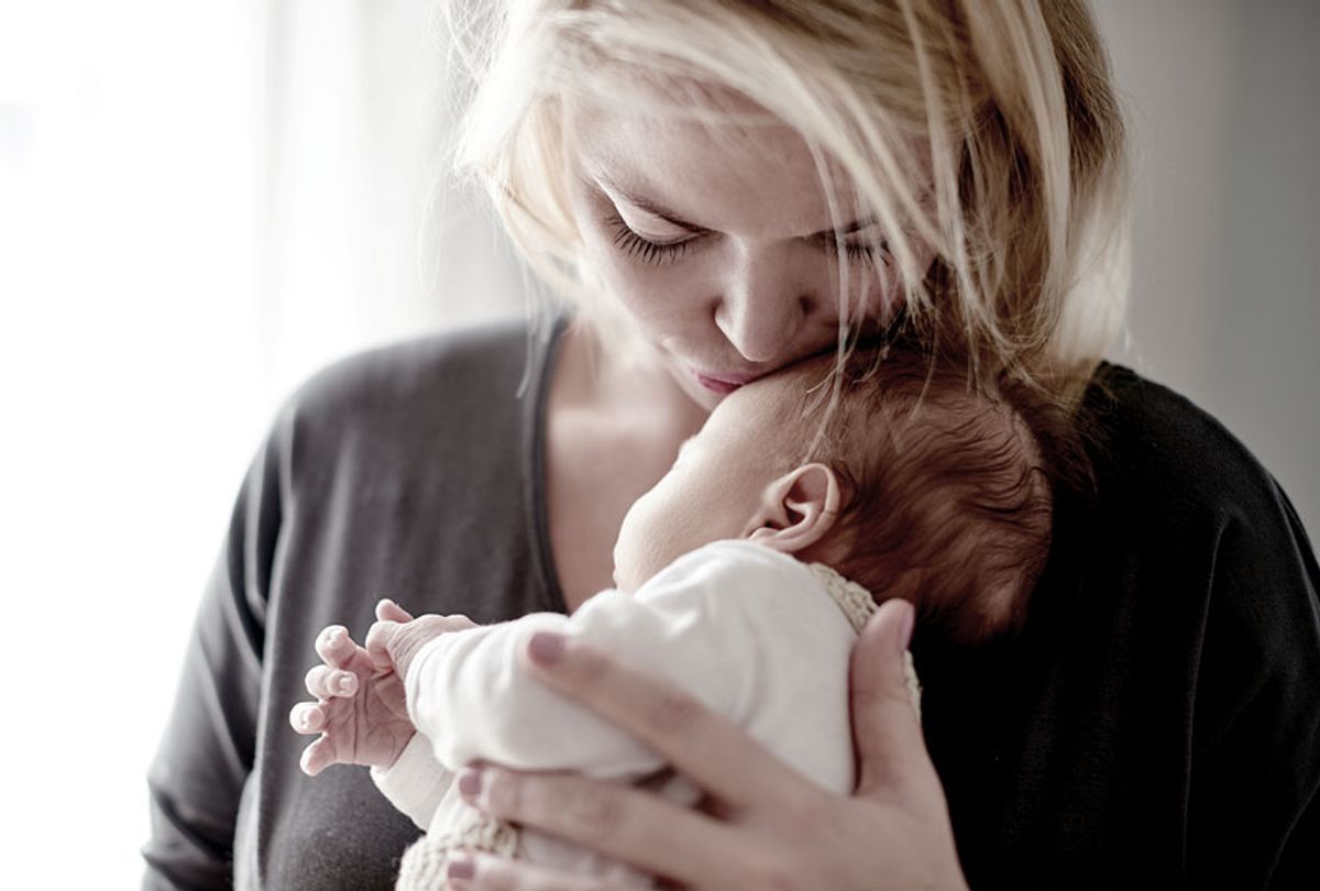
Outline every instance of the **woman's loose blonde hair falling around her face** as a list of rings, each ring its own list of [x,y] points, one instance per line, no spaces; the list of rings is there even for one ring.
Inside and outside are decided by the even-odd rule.
[[[455,3],[450,25],[475,74],[459,168],[532,268],[601,323],[564,100],[635,112],[639,94],[668,95],[656,114],[756,125],[725,94],[803,135],[834,207],[876,215],[902,327],[928,352],[1068,399],[1122,326],[1123,123],[1085,0],[504,0]],[[669,88],[619,98],[620,77]],[[840,281],[849,293],[842,260]]]

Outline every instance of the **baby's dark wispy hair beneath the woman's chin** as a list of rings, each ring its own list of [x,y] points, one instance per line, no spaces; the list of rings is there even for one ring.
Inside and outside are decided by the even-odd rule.
[[[912,601],[953,640],[1019,628],[1049,553],[1040,442],[1071,429],[1051,400],[1015,384],[987,393],[966,364],[900,348],[781,374],[793,466],[821,462],[842,490],[834,569],[876,599]]]

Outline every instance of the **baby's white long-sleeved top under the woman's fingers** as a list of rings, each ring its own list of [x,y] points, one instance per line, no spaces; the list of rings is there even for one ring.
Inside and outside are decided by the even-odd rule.
[[[791,557],[747,543],[708,545],[635,594],[603,591],[572,616],[532,614],[442,635],[408,671],[413,721],[450,768],[480,758],[521,770],[642,776],[661,767],[655,752],[527,671],[527,642],[537,631],[589,642],[668,678],[822,784],[851,780],[851,754],[838,741],[849,738],[854,635]],[[838,726],[817,725],[803,739],[791,727],[813,710]]]

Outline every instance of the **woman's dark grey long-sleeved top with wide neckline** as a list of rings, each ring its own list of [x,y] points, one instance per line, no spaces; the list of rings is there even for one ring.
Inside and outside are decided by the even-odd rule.
[[[417,830],[366,768],[304,776],[286,715],[317,631],[362,634],[381,595],[477,622],[564,610],[541,477],[553,342],[511,325],[378,350],[281,412],[150,771],[145,888],[392,887]],[[1100,383],[1100,495],[1060,504],[1026,628],[913,642],[964,869],[974,888],[1315,887],[1311,546],[1213,418],[1122,368]]]

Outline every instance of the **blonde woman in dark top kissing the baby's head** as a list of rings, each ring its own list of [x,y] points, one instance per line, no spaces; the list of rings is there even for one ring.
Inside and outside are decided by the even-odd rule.
[[[482,77],[461,158],[574,321],[531,351],[519,327],[378,351],[289,403],[153,766],[147,887],[389,887],[416,832],[364,771],[300,775],[306,642],[364,628],[380,594],[477,622],[574,609],[705,412],[870,335],[970,354],[1086,437],[1093,487],[1059,506],[1022,634],[966,649],[917,620],[917,726],[912,612],[886,605],[853,660],[851,797],[549,642],[545,681],[705,805],[494,766],[463,777],[474,800],[697,888],[1313,883],[1320,572],[1241,445],[1101,364],[1127,207],[1085,7],[519,0],[459,25]],[[450,880],[598,887],[491,858]]]

